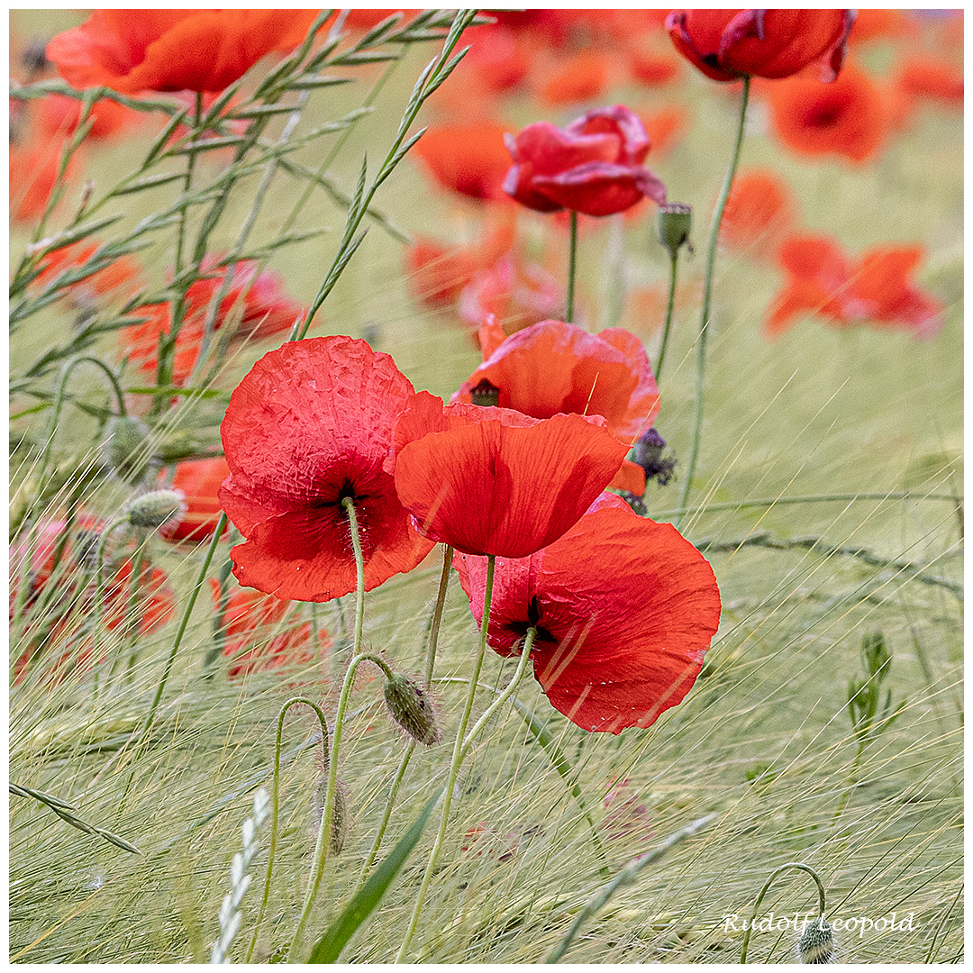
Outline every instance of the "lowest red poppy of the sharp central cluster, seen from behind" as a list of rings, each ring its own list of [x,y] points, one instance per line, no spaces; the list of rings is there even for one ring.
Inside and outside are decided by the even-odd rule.
[[[486,559],[453,564],[480,624]],[[606,495],[543,551],[497,559],[486,640],[517,655],[535,628],[534,675],[552,705],[583,730],[618,734],[682,701],[719,618],[703,555]]]

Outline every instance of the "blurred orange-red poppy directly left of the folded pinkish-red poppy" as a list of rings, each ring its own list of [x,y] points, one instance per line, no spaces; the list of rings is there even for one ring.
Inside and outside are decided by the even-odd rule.
[[[495,122],[429,126],[413,151],[445,189],[481,202],[506,200],[510,160]]]

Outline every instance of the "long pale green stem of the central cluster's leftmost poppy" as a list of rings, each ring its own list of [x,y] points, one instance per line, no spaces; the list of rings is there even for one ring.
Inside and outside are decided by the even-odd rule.
[[[348,518],[348,528],[351,533],[351,547],[355,554],[355,571],[357,577],[357,591],[355,592],[355,641],[354,657],[348,665],[348,670],[344,674],[342,684],[342,695],[338,700],[338,711],[335,714],[335,731],[331,742],[331,761],[328,767],[328,786],[324,797],[324,810],[321,811],[321,824],[317,831],[317,841],[314,845],[314,858],[311,863],[311,881],[307,885],[304,905],[301,909],[301,919],[298,920],[298,927],[294,932],[294,939],[291,940],[291,947],[287,953],[287,961],[291,963],[300,962],[298,951],[301,949],[301,940],[304,936],[307,919],[310,918],[311,909],[314,906],[314,899],[317,897],[317,890],[321,885],[324,876],[324,865],[328,858],[328,836],[331,835],[331,820],[335,809],[335,791],[338,787],[338,749],[342,742],[342,723],[344,721],[344,710],[351,695],[351,687],[355,680],[355,671],[360,663],[377,663],[382,667],[386,675],[391,676],[391,670],[381,662],[377,656],[369,654],[359,654],[362,644],[362,631],[365,624],[365,559],[362,554],[361,537],[358,531],[358,517],[355,513],[354,500],[346,496],[342,498],[342,507]]]

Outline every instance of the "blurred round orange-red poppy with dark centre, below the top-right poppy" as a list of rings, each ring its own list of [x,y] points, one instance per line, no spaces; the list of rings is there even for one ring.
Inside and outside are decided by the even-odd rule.
[[[882,92],[853,67],[829,85],[790,78],[768,94],[777,136],[802,156],[866,162],[882,146],[887,129]]]

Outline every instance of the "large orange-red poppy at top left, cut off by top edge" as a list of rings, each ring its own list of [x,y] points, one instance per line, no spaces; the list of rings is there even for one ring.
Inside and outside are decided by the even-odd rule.
[[[48,44],[75,88],[222,91],[271,52],[290,51],[316,10],[96,10]]]

